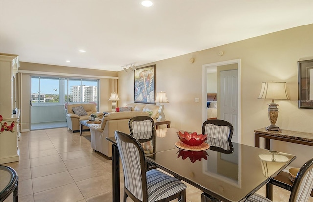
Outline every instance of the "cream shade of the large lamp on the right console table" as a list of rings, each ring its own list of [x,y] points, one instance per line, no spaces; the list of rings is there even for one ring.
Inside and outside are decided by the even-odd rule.
[[[285,82],[263,82],[259,99],[289,100]]]

